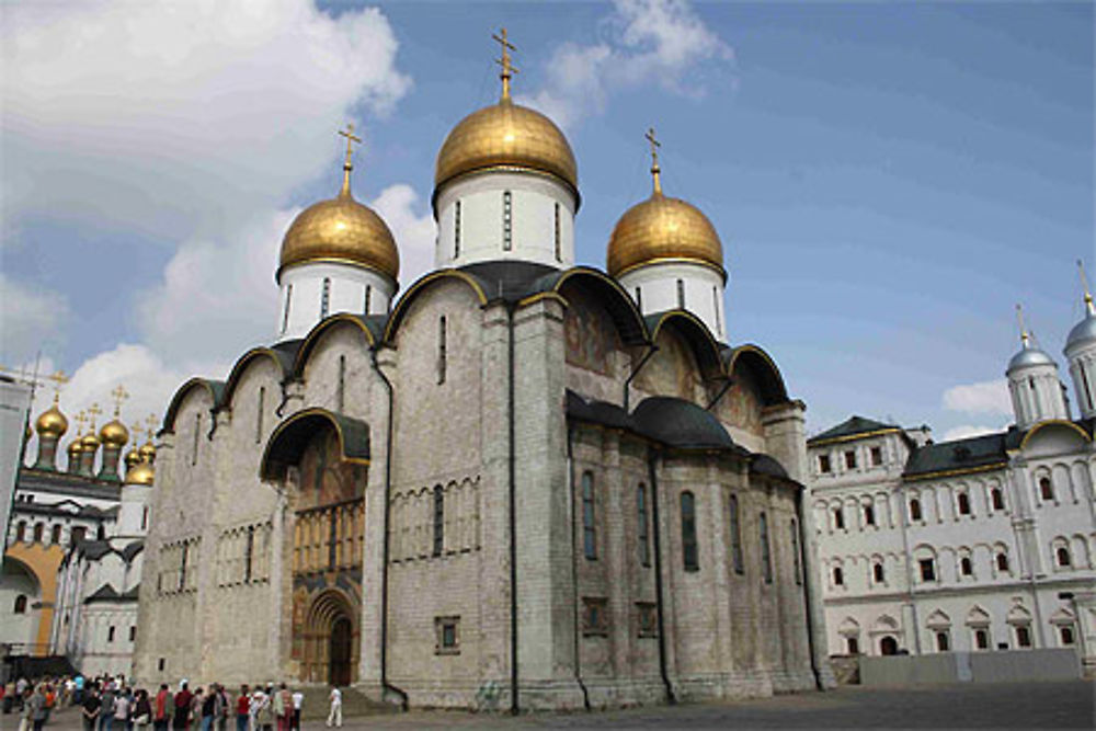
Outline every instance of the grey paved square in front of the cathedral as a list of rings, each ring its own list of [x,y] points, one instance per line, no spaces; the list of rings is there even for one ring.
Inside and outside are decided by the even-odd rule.
[[[306,700],[307,703],[307,700]],[[0,717],[0,729],[16,728]],[[47,729],[75,731],[73,710]],[[322,722],[304,724],[320,731]],[[347,719],[347,731],[373,729],[1066,729],[1096,728],[1096,686],[1087,682],[917,686],[894,689],[844,687],[831,693],[756,700],[646,707],[572,715],[472,715],[412,711]]]

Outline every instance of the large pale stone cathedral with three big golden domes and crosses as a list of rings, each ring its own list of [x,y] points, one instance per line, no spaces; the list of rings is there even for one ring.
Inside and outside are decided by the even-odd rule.
[[[289,226],[272,342],[157,445],[140,683],[352,686],[404,708],[825,687],[804,404],[730,344],[719,233],[661,186],[574,264],[578,165],[501,95],[437,155],[434,270],[351,191]]]

